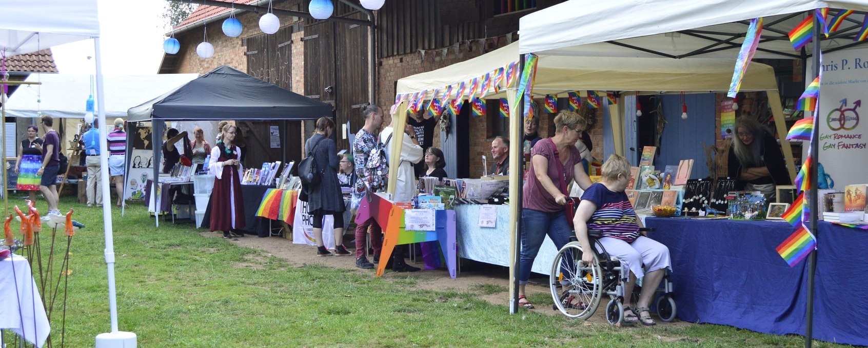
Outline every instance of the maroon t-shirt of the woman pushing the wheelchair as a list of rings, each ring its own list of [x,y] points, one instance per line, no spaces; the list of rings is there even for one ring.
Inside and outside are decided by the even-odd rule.
[[[576,163],[582,160],[577,148],[574,146],[569,146],[567,148],[569,148],[569,160],[567,160],[567,163],[563,165],[561,164],[561,160],[555,155],[557,147],[550,138],[536,141],[534,148],[530,149],[531,162],[533,162],[533,157],[536,155],[541,155],[549,160],[549,178],[551,178],[551,181],[555,183],[555,186],[561,192],[567,190],[569,181],[572,181],[574,177],[573,168],[575,168]],[[560,174],[557,168],[558,166],[562,166],[563,175],[565,176],[563,181],[558,178],[558,175]],[[542,187],[542,183],[536,180],[536,173],[534,173],[533,165],[530,166],[527,181],[524,182],[522,204],[525,208],[545,213],[555,213],[563,210],[563,206],[557,204],[555,197],[552,197],[552,195],[549,194],[549,191],[546,191],[545,187]]]

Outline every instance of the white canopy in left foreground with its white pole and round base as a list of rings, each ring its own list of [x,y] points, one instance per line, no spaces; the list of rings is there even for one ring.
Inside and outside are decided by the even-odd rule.
[[[105,124],[105,87],[102,82],[102,56],[100,49],[100,23],[96,0],[0,0],[3,22],[0,23],[0,51],[7,55],[35,52],[62,43],[94,39],[96,64],[96,109],[98,120]],[[5,94],[3,94],[5,102]],[[105,139],[106,128],[100,128],[100,137]],[[3,141],[5,143],[5,141]],[[109,148],[101,144],[100,162],[109,167]],[[109,197],[109,172],[102,171],[102,195]],[[112,230],[111,205],[102,207],[102,224],[105,232],[105,258],[109,280],[109,316],[111,332],[96,337],[97,347],[135,346],[133,332],[120,332],[117,327],[117,302],[115,293],[115,242]]]

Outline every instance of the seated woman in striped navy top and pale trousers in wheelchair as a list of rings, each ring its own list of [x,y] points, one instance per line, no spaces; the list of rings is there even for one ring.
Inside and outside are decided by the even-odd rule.
[[[584,251],[582,262],[590,265],[596,262],[596,259],[594,253],[589,252],[591,242],[588,230],[602,231],[600,244],[606,249],[606,253],[617,258],[621,261],[621,266],[630,270],[629,279],[624,285],[624,321],[656,325],[648,308],[666,270],[672,269],[672,261],[669,259],[667,246],[639,233],[641,220],[636,217],[633,206],[624,193],[629,181],[630,163],[627,159],[617,154],[609,156],[602,165],[602,182],[597,182],[585,190],[575,211],[575,236]],[[635,302],[634,310],[633,286],[638,278],[642,278],[642,291]]]

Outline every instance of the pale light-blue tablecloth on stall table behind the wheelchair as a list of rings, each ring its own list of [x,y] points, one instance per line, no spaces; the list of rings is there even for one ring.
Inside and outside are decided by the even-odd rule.
[[[510,266],[510,206],[497,206],[495,228],[479,227],[479,207],[482,206],[455,206],[458,256],[492,265]],[[516,243],[516,247],[522,247],[521,240]],[[548,275],[556,255],[555,243],[546,236],[530,270]]]

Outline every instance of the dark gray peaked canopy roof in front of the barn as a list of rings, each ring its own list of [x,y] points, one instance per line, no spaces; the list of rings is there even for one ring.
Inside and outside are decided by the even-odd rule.
[[[165,97],[128,110],[128,121],[313,120],[332,105],[281,89],[226,65]]]

